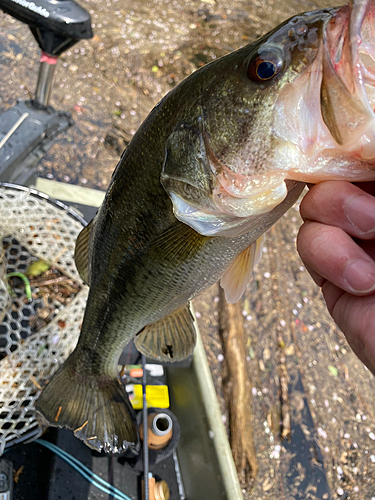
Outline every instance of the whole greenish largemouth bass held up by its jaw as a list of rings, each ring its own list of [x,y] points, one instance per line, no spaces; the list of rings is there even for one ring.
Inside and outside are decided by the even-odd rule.
[[[192,353],[189,301],[244,292],[259,239],[305,182],[375,180],[375,3],[297,15],[196,71],[125,150],[76,264],[90,293],[75,351],[37,410],[87,445],[137,445],[117,362],[135,338],[161,361]]]

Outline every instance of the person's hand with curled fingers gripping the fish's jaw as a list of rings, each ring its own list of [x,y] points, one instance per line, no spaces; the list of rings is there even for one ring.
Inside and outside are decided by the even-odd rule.
[[[301,203],[297,249],[332,318],[375,375],[375,182],[325,181]]]

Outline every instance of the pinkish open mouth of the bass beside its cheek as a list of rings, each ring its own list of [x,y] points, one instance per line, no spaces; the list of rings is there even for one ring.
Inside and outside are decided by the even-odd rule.
[[[375,4],[356,0],[337,10],[323,40],[320,107],[335,142],[375,158]]]

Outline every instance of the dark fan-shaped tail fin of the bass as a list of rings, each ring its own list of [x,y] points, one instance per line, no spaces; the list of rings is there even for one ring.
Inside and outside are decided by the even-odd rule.
[[[71,356],[41,393],[36,410],[42,426],[67,427],[97,451],[136,448],[134,412],[121,381],[77,374],[74,368]]]

